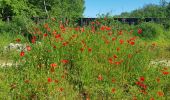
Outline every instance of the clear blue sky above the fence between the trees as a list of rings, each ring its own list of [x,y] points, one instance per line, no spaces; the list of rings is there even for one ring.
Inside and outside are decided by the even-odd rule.
[[[170,0],[166,0],[170,2]],[[160,0],[85,0],[85,17],[96,17],[97,14],[107,12],[112,15],[121,12],[130,12],[137,8],[142,8],[146,4],[159,4]]]

